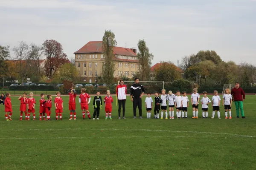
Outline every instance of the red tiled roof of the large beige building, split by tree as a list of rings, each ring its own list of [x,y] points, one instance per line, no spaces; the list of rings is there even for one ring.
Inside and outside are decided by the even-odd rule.
[[[114,47],[114,55],[132,56],[137,57],[130,48]],[[89,41],[74,54],[86,54],[86,53],[103,53],[102,41]]]

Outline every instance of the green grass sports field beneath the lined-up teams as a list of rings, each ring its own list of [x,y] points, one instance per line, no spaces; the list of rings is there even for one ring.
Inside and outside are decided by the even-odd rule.
[[[8,122],[0,106],[0,170],[256,169],[256,96],[244,101],[247,119],[235,118],[235,105],[233,119],[224,119],[222,106],[222,119],[201,119],[201,107],[200,119],[145,119],[145,109],[144,119],[132,119],[128,98],[125,120],[117,119],[114,101],[113,120],[104,119],[103,109],[100,120],[82,120],[77,105],[77,120],[69,121],[68,97],[63,99],[62,121],[39,121],[38,104],[37,120],[19,121],[20,104],[12,97]],[[192,117],[191,107],[188,113]]]

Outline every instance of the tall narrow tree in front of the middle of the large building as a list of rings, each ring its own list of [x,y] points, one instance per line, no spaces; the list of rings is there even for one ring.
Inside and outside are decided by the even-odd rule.
[[[116,46],[115,34],[111,30],[105,30],[102,38],[103,46],[103,64],[102,64],[102,77],[109,85],[113,83],[114,72],[116,71],[116,63],[113,62],[113,48]]]

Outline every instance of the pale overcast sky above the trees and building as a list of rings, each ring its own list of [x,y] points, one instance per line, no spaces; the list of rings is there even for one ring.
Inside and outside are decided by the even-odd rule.
[[[209,49],[256,65],[256,0],[0,0],[0,45],[54,39],[73,57],[105,29],[120,47],[145,39],[152,64]]]

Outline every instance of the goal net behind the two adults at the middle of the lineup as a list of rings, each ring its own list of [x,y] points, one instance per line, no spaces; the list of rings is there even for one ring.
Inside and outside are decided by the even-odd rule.
[[[140,81],[139,83],[144,86],[145,93],[154,94],[156,91],[161,93],[161,90],[164,89],[164,81]],[[120,82],[117,82],[117,84],[119,85]],[[124,84],[127,86],[127,93],[130,94],[130,89],[134,81],[124,81]]]

